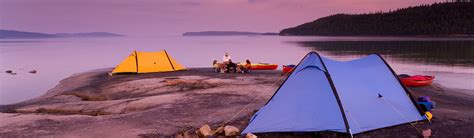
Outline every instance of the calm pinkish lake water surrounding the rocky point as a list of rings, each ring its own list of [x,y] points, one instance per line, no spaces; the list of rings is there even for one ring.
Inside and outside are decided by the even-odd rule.
[[[474,38],[426,37],[116,37],[0,39],[0,104],[42,95],[74,73],[112,68],[133,50],[159,51],[186,67],[234,61],[297,64],[309,51],[336,60],[380,53],[399,73],[435,75],[445,87],[474,90]],[[13,70],[17,75],[5,73]],[[38,70],[36,74],[28,71]]]

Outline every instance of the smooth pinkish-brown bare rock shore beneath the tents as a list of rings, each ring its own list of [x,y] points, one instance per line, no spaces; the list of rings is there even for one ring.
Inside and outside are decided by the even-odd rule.
[[[195,135],[204,124],[242,130],[284,79],[280,71],[219,74],[209,68],[192,68],[108,76],[110,70],[75,74],[43,96],[1,105],[0,137]],[[428,128],[433,136],[474,136],[473,95],[460,92],[468,90],[437,84],[410,89],[414,95],[430,96],[437,102],[431,123],[404,124],[358,136],[420,136],[420,130]],[[259,136],[275,135],[295,134]]]

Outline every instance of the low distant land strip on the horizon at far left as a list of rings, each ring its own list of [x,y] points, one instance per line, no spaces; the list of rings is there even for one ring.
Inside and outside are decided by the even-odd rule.
[[[40,38],[58,38],[58,37],[118,37],[118,36],[125,36],[125,35],[108,33],[108,32],[47,34],[47,33],[24,32],[24,31],[0,29],[0,39],[40,39]]]

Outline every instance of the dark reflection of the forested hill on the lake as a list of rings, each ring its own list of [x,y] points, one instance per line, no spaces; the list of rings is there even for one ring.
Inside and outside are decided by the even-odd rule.
[[[379,53],[401,62],[474,67],[474,41],[312,41],[295,43],[336,56]]]

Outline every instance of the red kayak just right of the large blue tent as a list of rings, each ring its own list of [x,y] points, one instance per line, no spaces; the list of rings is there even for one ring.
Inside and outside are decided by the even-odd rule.
[[[433,83],[434,76],[423,76],[423,75],[414,75],[410,76],[407,74],[398,75],[400,80],[405,86],[408,87],[419,87],[427,86]]]

